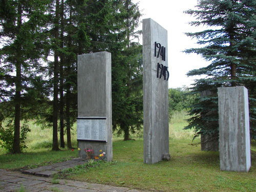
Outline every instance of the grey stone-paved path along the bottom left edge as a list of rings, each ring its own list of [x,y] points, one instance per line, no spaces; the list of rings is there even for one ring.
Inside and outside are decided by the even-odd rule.
[[[3,192],[140,192],[141,190],[127,187],[115,187],[96,183],[79,182],[71,180],[58,180],[53,184],[52,178],[38,177],[35,175],[22,174],[20,172],[0,169],[0,191]],[[21,187],[25,190],[20,190]],[[145,191],[141,191],[145,192]]]

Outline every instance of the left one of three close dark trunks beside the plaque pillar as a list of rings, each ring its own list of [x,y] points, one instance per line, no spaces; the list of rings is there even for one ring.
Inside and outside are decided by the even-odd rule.
[[[59,20],[59,1],[56,0],[56,18],[55,18],[55,39],[58,39],[58,20]],[[57,42],[55,42],[57,44]],[[58,151],[58,54],[54,50],[54,78],[53,78],[53,137],[52,150]]]

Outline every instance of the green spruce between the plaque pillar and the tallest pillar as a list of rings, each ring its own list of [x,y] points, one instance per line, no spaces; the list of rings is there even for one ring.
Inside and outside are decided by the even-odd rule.
[[[122,50],[112,61],[113,129],[130,139],[130,133],[143,124],[142,46],[136,42],[141,31],[136,31],[141,13],[138,4],[120,1],[120,30],[124,34]]]

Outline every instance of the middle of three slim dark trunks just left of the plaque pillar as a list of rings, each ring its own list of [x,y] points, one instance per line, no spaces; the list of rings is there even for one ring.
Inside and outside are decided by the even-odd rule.
[[[61,42],[60,42],[60,48],[63,49],[63,31],[64,31],[64,26],[63,26],[63,14],[64,14],[64,2],[61,0],[61,23],[60,23],[60,37],[61,37]],[[60,54],[60,66],[59,66],[59,74],[60,74],[60,86],[59,86],[59,92],[60,92],[60,109],[59,109],[59,121],[60,121],[60,147],[65,148],[65,142],[64,142],[64,98],[63,98],[63,63],[64,63],[64,55],[63,53]]]

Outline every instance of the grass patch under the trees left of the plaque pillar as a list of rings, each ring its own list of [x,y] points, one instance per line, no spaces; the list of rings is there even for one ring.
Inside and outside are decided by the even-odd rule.
[[[78,151],[61,148],[61,151],[53,152],[52,148],[52,130],[42,130],[39,126],[29,122],[31,132],[28,133],[26,145],[28,148],[22,154],[9,154],[4,148],[0,148],[0,168],[20,169],[34,168],[41,165],[47,165],[55,162],[65,161],[78,156]],[[76,129],[72,131],[72,146],[77,147]],[[65,136],[65,143],[66,136]]]

